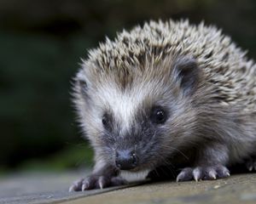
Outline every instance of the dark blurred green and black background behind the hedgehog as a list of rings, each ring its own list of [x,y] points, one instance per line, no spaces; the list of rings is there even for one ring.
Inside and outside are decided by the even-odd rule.
[[[223,28],[256,57],[254,0],[0,0],[0,172],[90,167],[71,103],[88,48],[144,20]]]

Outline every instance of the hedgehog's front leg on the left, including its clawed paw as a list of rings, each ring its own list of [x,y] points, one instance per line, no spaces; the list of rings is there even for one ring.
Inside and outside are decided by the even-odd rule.
[[[119,177],[119,170],[116,167],[106,165],[99,161],[95,170],[87,178],[81,178],[74,182],[69,191],[103,189],[109,186],[126,184],[125,179]]]

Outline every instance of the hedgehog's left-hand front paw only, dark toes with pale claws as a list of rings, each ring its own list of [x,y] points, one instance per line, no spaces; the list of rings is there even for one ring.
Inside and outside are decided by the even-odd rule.
[[[69,192],[103,189],[110,186],[118,186],[126,183],[127,183],[126,180],[119,176],[110,177],[110,176],[92,174],[87,178],[81,178],[78,181],[74,182],[70,186]]]

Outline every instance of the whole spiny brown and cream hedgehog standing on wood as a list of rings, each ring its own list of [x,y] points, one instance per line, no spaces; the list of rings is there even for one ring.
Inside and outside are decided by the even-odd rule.
[[[125,184],[123,172],[199,181],[236,164],[256,170],[256,65],[246,54],[189,20],[151,20],[91,49],[73,103],[95,166],[70,191]]]

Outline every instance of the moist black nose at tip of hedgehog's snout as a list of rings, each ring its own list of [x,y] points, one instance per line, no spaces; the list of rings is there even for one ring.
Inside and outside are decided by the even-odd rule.
[[[118,150],[116,152],[115,163],[121,170],[130,170],[137,167],[137,156],[130,150]]]

